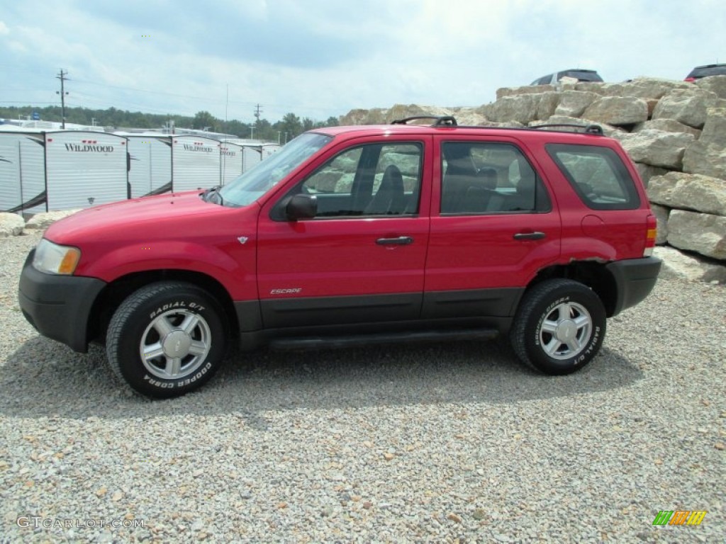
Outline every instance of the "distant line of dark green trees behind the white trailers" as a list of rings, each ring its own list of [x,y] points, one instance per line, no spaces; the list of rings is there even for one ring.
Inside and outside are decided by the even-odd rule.
[[[0,107],[0,118],[29,119],[33,113],[38,113],[41,120],[60,123],[62,113],[60,106],[47,107]],[[298,134],[312,128],[338,125],[335,117],[325,121],[299,118],[290,112],[277,121],[270,123],[266,119],[258,119],[254,123],[242,123],[238,120],[217,119],[210,112],[197,112],[194,117],[184,115],[158,115],[152,113],[129,112],[110,107],[107,110],[89,110],[85,107],[65,108],[65,122],[78,125],[96,125],[111,127],[118,130],[123,128],[162,128],[174,123],[177,128],[196,128],[210,132],[234,134],[238,138],[252,138],[256,140],[280,141],[284,144]]]

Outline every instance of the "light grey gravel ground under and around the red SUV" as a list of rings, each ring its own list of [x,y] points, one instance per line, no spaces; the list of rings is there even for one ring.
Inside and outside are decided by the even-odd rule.
[[[724,542],[725,287],[659,282],[572,376],[505,342],[261,350],[152,402],[25,322],[37,240],[0,240],[0,542]]]

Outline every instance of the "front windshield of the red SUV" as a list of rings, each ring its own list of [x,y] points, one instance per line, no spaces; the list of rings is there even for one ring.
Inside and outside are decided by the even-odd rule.
[[[285,144],[272,157],[266,158],[219,189],[221,202],[224,202],[225,206],[232,207],[246,206],[255,202],[331,139],[333,139],[331,136],[325,134],[311,132],[301,134]]]

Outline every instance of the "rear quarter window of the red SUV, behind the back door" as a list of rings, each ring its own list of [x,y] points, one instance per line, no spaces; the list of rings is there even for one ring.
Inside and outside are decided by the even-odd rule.
[[[592,210],[636,210],[640,197],[619,155],[609,147],[547,144],[584,205]]]

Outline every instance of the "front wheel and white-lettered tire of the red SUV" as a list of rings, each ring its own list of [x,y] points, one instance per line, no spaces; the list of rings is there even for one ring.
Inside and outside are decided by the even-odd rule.
[[[219,370],[225,351],[219,303],[199,287],[164,281],[129,295],[113,314],[106,354],[131,389],[157,398],[196,390]]]

